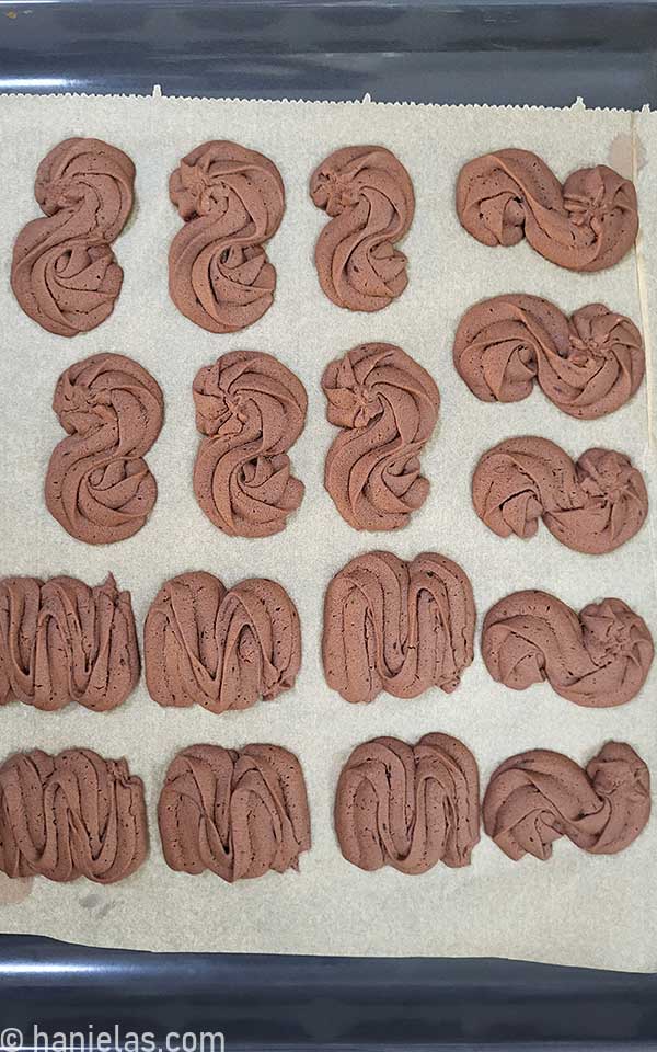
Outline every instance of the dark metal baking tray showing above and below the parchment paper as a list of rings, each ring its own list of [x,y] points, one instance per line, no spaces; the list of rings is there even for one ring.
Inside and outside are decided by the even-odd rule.
[[[0,91],[154,84],[178,95],[655,106],[657,2],[0,0]],[[0,936],[0,1048],[61,1052],[70,1031],[84,1052],[212,1052],[203,1032],[222,1032],[227,1052],[647,1050],[657,975]],[[168,1047],[172,1033],[187,1044]]]

